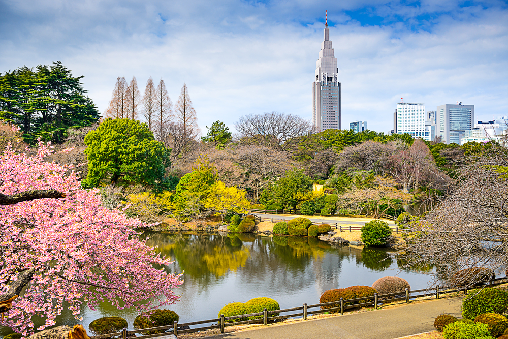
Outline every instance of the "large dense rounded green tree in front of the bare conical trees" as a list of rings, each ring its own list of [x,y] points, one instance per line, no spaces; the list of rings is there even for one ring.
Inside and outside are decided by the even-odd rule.
[[[106,119],[85,137],[88,146],[88,175],[84,187],[102,183],[140,183],[163,181],[170,165],[171,150],[155,141],[146,124],[131,119]]]

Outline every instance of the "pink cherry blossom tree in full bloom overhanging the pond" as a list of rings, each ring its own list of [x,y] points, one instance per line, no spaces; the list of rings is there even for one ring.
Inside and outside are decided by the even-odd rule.
[[[66,302],[76,319],[109,301],[148,310],[175,303],[181,275],[139,240],[139,220],[101,206],[98,190],[82,190],[72,166],[44,161],[10,145],[0,155],[0,313],[2,325],[27,336],[31,317],[55,325]],[[23,290],[24,289],[24,290]],[[148,303],[141,301],[148,300]]]

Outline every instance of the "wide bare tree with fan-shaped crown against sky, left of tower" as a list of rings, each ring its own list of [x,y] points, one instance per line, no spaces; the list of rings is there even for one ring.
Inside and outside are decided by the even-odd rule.
[[[235,128],[240,133],[237,137],[240,144],[286,151],[296,148],[300,139],[312,131],[308,120],[279,112],[244,115]]]

